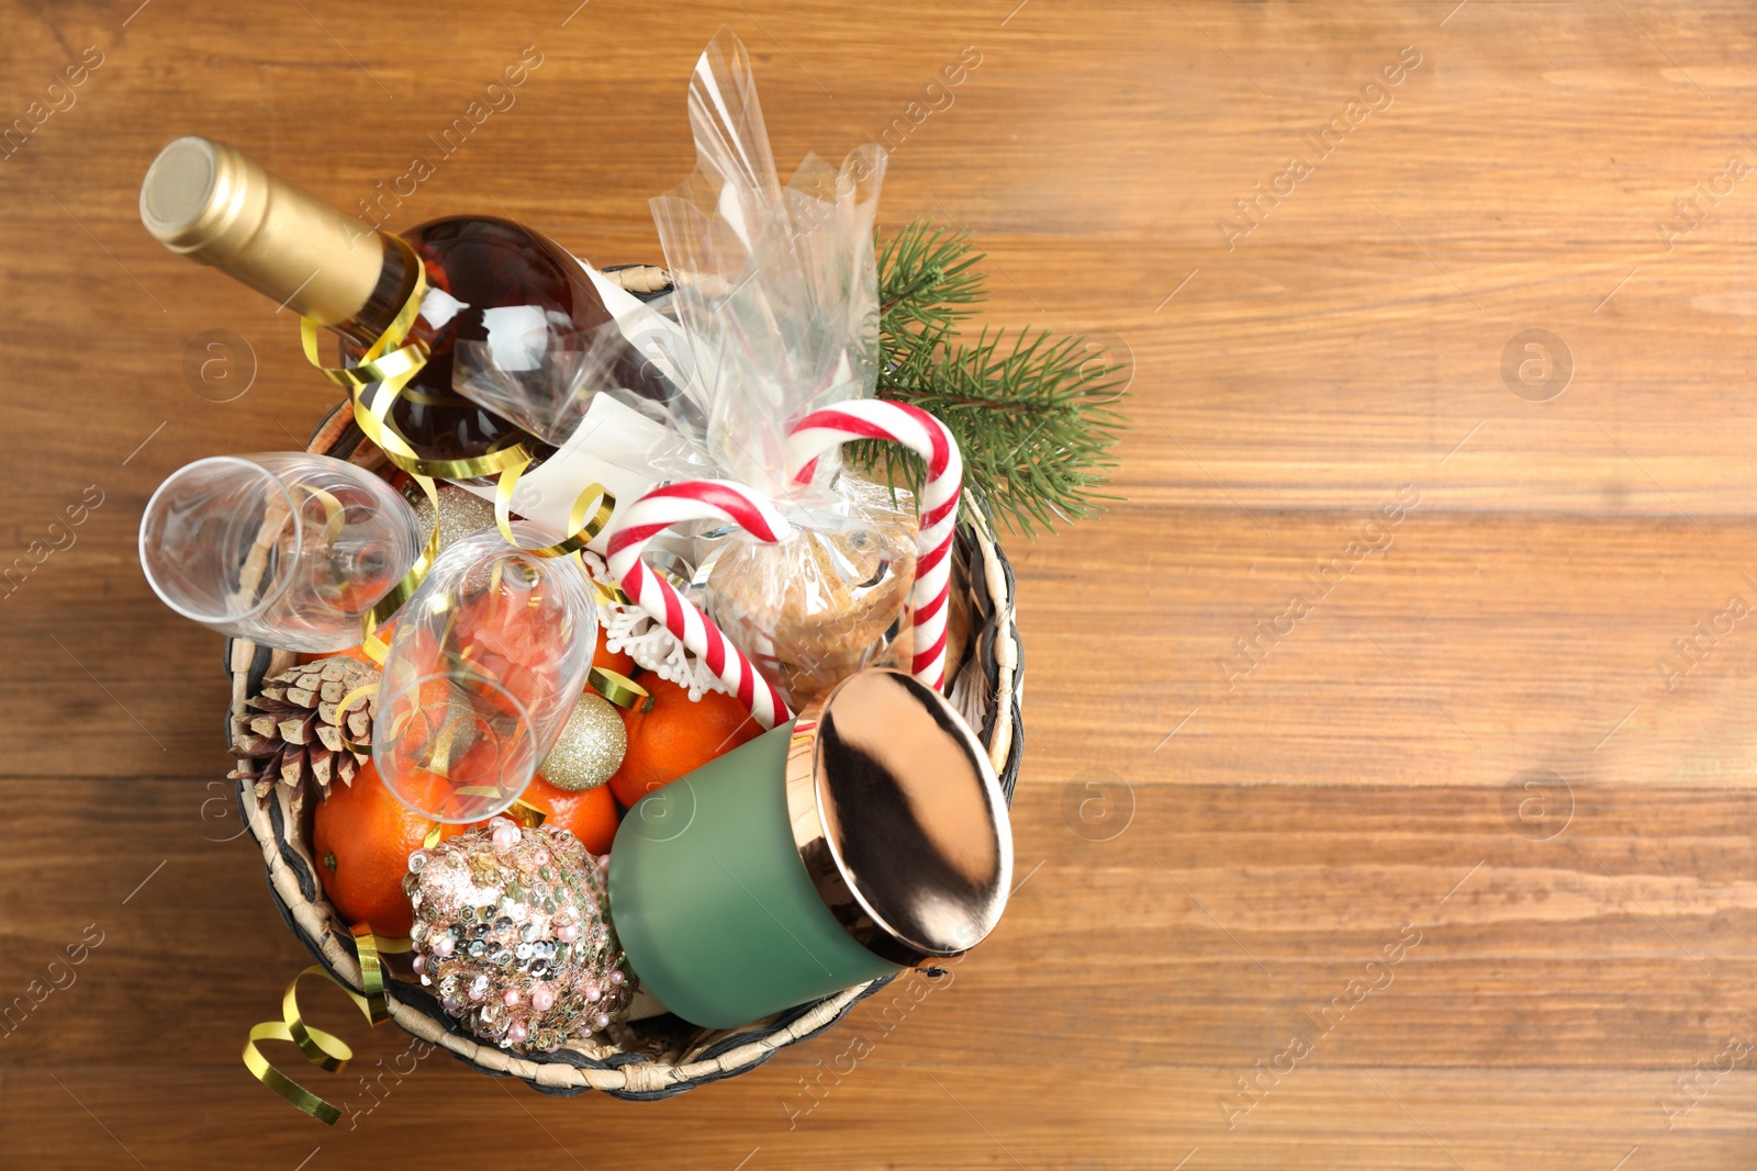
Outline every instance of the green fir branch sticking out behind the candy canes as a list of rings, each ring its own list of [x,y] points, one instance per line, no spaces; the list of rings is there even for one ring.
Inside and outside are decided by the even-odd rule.
[[[936,414],[958,437],[965,485],[1007,528],[1035,535],[1116,497],[1100,486],[1128,420],[1114,407],[1128,370],[1086,337],[1023,330],[958,335],[986,298],[982,258],[963,233],[917,219],[878,256],[884,369],[878,397]],[[852,444],[893,488],[919,492],[921,460],[894,444]]]

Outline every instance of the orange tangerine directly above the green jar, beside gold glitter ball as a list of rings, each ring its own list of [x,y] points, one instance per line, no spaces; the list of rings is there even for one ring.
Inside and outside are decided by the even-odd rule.
[[[640,685],[648,699],[622,711],[629,751],[610,778],[624,808],[763,732],[736,695],[708,692],[692,704],[687,688],[655,674],[641,676]]]

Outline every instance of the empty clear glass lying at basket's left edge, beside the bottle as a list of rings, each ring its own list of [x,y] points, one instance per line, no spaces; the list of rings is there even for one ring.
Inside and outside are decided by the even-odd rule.
[[[290,651],[358,646],[360,618],[422,544],[415,509],[383,479],[293,451],[197,460],[141,518],[141,569],[165,606]]]

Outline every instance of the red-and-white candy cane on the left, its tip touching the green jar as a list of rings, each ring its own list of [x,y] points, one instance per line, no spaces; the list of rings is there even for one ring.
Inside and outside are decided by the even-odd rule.
[[[610,532],[610,572],[622,592],[664,623],[720,681],[757,723],[771,729],[792,718],[792,709],[745,653],[719,627],[682,597],[671,583],[641,562],[647,542],[683,520],[731,521],[759,541],[782,541],[792,527],[761,495],[731,479],[689,479],[654,488],[617,518]]]

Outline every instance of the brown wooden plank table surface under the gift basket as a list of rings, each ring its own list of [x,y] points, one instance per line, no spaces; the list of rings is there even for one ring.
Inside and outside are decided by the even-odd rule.
[[[1752,1166],[1750,5],[575,2],[0,14],[0,116],[65,107],[0,162],[0,1002],[46,994],[0,1036],[0,1162]],[[306,955],[216,801],[220,641],[134,534],[329,388],[146,235],[141,174],[197,132],[355,205],[536,46],[392,221],[657,258],[722,21],[780,160],[891,128],[887,230],[963,225],[993,320],[1133,353],[1126,500],[1010,544],[1024,881],[952,987],[736,1081],[429,1060],[325,1129],[239,1066]]]

